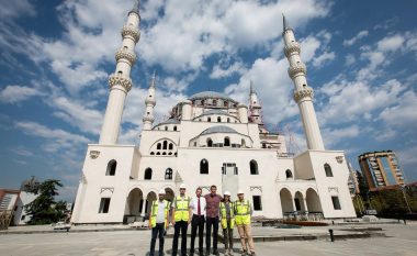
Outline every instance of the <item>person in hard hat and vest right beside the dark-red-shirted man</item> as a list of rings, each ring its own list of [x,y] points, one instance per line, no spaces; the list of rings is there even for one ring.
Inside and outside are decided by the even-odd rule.
[[[219,218],[223,229],[223,237],[225,243],[225,255],[233,255],[233,227],[235,226],[235,208],[230,202],[230,192],[223,193],[223,201],[221,202]]]

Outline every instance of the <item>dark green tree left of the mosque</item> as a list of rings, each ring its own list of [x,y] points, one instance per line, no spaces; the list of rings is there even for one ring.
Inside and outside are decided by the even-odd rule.
[[[48,179],[33,189],[38,196],[25,205],[27,214],[32,216],[29,224],[50,224],[64,219],[65,202],[55,201],[55,196],[59,194],[58,187],[63,187],[59,180]]]

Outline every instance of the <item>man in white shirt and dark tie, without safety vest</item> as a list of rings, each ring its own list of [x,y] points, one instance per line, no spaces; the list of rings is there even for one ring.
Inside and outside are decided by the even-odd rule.
[[[190,256],[194,255],[194,241],[196,230],[199,229],[199,255],[203,255],[203,236],[204,236],[204,222],[205,222],[205,198],[201,196],[202,189],[199,187],[195,190],[195,197],[191,199],[190,207],[192,209],[191,220],[191,248]]]

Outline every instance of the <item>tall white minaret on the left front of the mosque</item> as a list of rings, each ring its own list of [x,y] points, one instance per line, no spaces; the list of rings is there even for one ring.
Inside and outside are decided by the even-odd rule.
[[[132,88],[131,69],[136,60],[135,45],[139,41],[139,1],[127,14],[127,21],[122,29],[122,47],[117,49],[116,70],[109,77],[109,101],[104,122],[101,129],[99,144],[114,145],[117,143],[122,122],[124,102]]]

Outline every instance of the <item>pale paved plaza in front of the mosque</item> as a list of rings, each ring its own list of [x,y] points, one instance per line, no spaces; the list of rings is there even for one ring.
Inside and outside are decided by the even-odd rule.
[[[279,241],[256,243],[257,255],[404,255],[414,256],[417,252],[417,223],[404,224],[379,224],[365,225],[381,227],[386,236],[370,238],[329,240],[314,241]],[[359,229],[365,227],[358,226]],[[351,226],[350,226],[351,227]],[[33,229],[33,227],[32,227]],[[306,235],[325,234],[329,226],[303,227],[297,230],[258,227],[256,233],[263,235]],[[342,233],[349,226],[331,226],[335,233]],[[257,235],[257,234],[255,234]],[[43,234],[1,234],[0,255],[148,255],[150,231],[100,231],[100,232],[72,232],[69,233],[43,233]],[[170,255],[172,238],[166,238],[166,255]],[[158,244],[157,244],[158,246]],[[221,245],[219,248],[223,246]],[[240,248],[236,244],[236,248]],[[222,253],[222,251],[221,251]],[[235,251],[235,255],[239,251]]]

